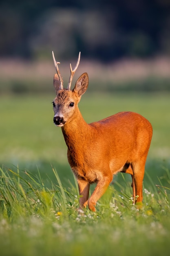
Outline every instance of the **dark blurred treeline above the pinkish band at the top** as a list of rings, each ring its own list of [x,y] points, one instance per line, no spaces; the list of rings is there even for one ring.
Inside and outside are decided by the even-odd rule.
[[[1,0],[0,57],[170,55],[170,0]]]

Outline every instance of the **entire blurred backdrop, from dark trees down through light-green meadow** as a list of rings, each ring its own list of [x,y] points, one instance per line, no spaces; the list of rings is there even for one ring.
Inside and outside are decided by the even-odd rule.
[[[140,112],[154,126],[150,157],[169,161],[169,0],[1,0],[2,164],[67,165],[50,105],[52,50],[66,86],[69,64],[75,65],[81,51],[75,81],[88,72],[80,103],[87,122],[121,110]]]

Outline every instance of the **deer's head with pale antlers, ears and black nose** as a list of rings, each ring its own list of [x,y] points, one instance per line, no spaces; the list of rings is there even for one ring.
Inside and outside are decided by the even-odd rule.
[[[68,86],[66,89],[64,89],[63,79],[57,65],[60,62],[55,61],[54,54],[53,54],[53,60],[54,60],[54,65],[57,72],[57,74],[54,75],[54,80],[53,80],[53,85],[56,92],[56,97],[53,100],[53,110],[54,110],[53,121],[56,126],[62,127],[64,126],[64,124],[73,120],[77,115],[77,111],[78,111],[77,105],[81,99],[81,96],[86,92],[88,88],[88,74],[83,73],[75,83],[74,89],[71,90],[71,82],[80,61],[80,52],[79,52],[78,61],[77,61],[77,64],[75,65],[74,70],[72,70],[72,67],[70,64],[71,75],[68,81]]]

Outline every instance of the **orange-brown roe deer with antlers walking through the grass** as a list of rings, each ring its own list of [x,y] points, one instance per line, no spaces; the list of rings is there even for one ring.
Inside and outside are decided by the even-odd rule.
[[[146,157],[152,138],[152,126],[134,112],[119,112],[103,120],[87,124],[78,108],[81,96],[88,87],[88,74],[82,74],[71,90],[71,81],[77,70],[71,70],[68,87],[63,88],[63,79],[58,69],[60,62],[53,60],[57,74],[54,75],[56,97],[53,100],[56,126],[68,147],[67,157],[79,187],[79,209],[88,206],[95,211],[97,200],[104,194],[113,175],[118,172],[132,176],[133,204],[142,202],[142,182]],[[89,197],[90,184],[96,182]]]

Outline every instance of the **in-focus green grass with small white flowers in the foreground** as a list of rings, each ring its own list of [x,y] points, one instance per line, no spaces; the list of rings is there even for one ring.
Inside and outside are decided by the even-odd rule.
[[[49,179],[49,189],[40,173],[0,169],[2,255],[11,255],[11,250],[22,256],[113,255],[113,250],[117,255],[169,255],[168,187],[144,188],[143,208],[138,210],[128,184],[121,191],[110,186],[97,212],[78,213],[76,185],[66,189],[52,171],[55,180]]]

